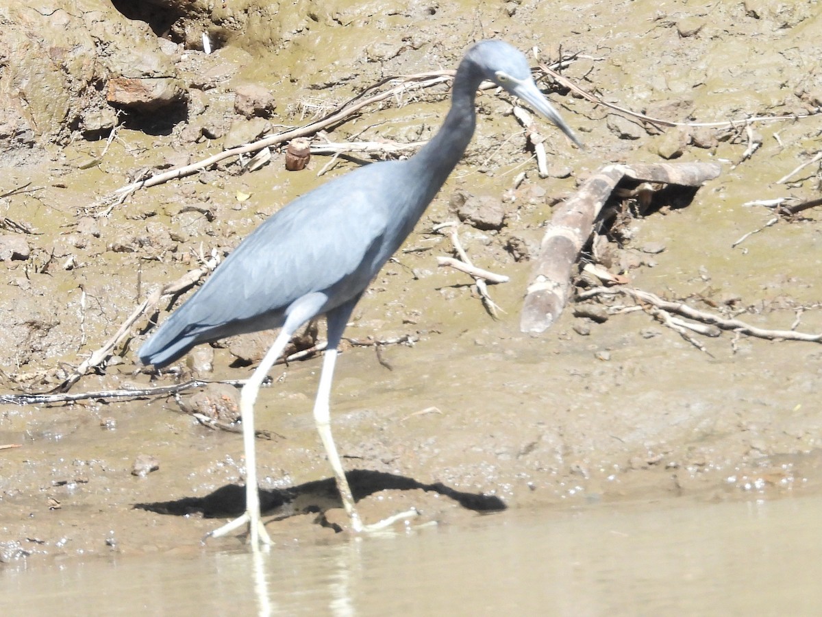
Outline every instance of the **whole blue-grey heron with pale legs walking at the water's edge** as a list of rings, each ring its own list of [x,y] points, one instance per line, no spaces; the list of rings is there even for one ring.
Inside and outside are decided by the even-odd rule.
[[[322,314],[328,324],[328,344],[314,420],[351,528],[372,531],[412,514],[363,525],[331,436],[331,379],[337,346],[354,305],[411,233],[468,146],[476,124],[474,97],[483,80],[527,102],[579,145],[533,82],[522,53],[496,40],[474,44],[459,63],[445,123],[416,155],[356,169],[284,206],[243,240],[141,347],[143,363],[162,367],[200,343],[281,328],[240,394],[246,511],[209,536],[224,536],[247,525],[252,546],[256,548],[261,540],[270,544],[257,493],[254,402],[294,332]]]

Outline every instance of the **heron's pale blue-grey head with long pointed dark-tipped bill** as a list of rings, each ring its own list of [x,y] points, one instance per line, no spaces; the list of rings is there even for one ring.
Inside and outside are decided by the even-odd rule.
[[[524,100],[538,114],[551,120],[571,141],[582,146],[574,132],[548,102],[531,77],[524,55],[501,40],[484,40],[469,50],[469,57],[483,72],[483,77]]]

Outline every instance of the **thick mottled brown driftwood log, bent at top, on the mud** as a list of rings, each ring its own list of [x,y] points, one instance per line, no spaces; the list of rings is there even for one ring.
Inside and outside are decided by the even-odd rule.
[[[571,268],[593,232],[599,212],[621,179],[699,187],[720,172],[716,163],[608,165],[586,180],[573,197],[559,206],[546,227],[525,290],[520,331],[544,332],[560,316],[570,292]]]

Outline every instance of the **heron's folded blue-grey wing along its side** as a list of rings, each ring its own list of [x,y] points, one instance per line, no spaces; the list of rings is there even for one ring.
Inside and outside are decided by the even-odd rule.
[[[195,329],[218,327],[274,313],[315,291],[345,290],[346,281],[359,285],[354,293],[362,290],[388,257],[377,254],[385,210],[372,207],[369,197],[362,183],[336,181],[289,203],[243,240],[173,317]]]

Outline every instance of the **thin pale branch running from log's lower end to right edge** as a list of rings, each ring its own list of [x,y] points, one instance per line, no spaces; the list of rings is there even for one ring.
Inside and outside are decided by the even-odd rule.
[[[632,287],[594,287],[593,289],[581,292],[579,298],[590,299],[599,296],[612,297],[615,295],[626,295],[629,298],[634,299],[635,302],[640,305],[650,306],[655,309],[665,311],[666,313],[674,313],[680,315],[681,317],[692,319],[695,322],[718,327],[722,330],[746,334],[748,336],[755,336],[756,338],[764,338],[769,341],[805,341],[810,343],[822,342],[822,333],[807,334],[806,332],[796,332],[794,330],[769,330],[767,328],[751,326],[749,323],[741,321],[741,319],[719,317],[713,313],[701,311],[698,308],[689,306],[684,302],[672,302],[671,300],[665,300],[660,298],[658,295],[651,294],[648,291],[637,290]],[[679,325],[684,325],[684,322],[680,322]],[[700,332],[699,328],[690,327],[690,329],[695,332]],[[705,334],[706,336],[716,336],[716,334],[714,334],[711,330],[700,332],[700,334]]]

